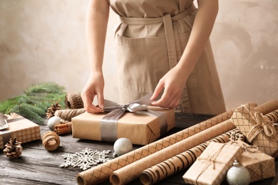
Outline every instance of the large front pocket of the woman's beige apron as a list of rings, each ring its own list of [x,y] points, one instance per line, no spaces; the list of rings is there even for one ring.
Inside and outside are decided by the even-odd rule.
[[[153,92],[169,70],[165,36],[126,38],[115,36],[119,88]]]

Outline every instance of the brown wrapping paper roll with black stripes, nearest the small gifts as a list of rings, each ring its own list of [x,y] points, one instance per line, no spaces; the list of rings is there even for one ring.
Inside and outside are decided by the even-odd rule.
[[[234,141],[235,139],[244,139],[245,137],[242,136],[243,134],[240,133],[238,129],[232,129],[225,134],[199,144],[197,147],[188,149],[187,151],[182,152],[175,157],[167,159],[164,162],[160,162],[159,164],[156,164],[149,169],[145,169],[140,174],[140,181],[143,184],[155,184],[158,181],[162,181],[168,176],[176,174],[177,172],[182,171],[183,169],[186,169],[191,164],[193,164],[197,157],[199,157],[200,154],[202,154],[202,152],[207,148],[207,145],[210,144],[210,142],[226,143],[230,142],[230,140]]]

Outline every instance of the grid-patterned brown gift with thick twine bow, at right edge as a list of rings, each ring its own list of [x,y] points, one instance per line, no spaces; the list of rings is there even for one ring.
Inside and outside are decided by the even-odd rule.
[[[271,112],[270,112],[271,113]],[[252,105],[238,107],[230,119],[240,132],[247,137],[247,142],[259,147],[259,150],[271,156],[278,151],[277,123],[254,110]]]

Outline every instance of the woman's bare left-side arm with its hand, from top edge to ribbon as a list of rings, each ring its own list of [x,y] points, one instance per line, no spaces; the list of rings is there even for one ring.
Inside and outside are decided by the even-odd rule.
[[[108,1],[89,1],[86,15],[86,38],[91,75],[81,93],[87,112],[104,112],[102,110],[104,107],[102,65],[108,17]],[[92,104],[96,96],[98,97],[98,107]]]

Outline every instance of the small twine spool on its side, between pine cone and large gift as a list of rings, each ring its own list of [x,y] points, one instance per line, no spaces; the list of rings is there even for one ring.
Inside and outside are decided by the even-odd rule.
[[[48,131],[43,134],[43,147],[45,147],[49,151],[53,151],[58,149],[60,146],[60,138],[58,134],[53,131]]]

